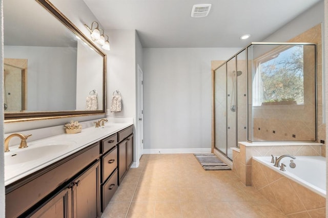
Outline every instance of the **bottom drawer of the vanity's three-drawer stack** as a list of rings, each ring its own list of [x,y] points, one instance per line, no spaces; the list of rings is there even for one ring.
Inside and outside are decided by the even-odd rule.
[[[116,189],[117,189],[117,169],[110,177],[110,179],[102,186],[101,193],[102,193],[102,200],[103,204],[101,205],[101,211],[104,211],[107,207],[108,203],[111,201]]]

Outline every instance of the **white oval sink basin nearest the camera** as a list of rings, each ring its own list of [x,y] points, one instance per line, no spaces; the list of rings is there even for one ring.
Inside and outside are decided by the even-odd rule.
[[[14,148],[5,154],[5,166],[35,161],[42,158],[50,158],[56,154],[62,154],[76,144],[73,141],[57,141],[43,143],[28,143],[27,148]]]

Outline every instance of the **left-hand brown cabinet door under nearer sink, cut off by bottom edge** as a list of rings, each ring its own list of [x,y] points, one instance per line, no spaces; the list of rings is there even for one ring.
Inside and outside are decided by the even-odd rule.
[[[70,218],[72,217],[71,189],[66,188],[30,217]]]

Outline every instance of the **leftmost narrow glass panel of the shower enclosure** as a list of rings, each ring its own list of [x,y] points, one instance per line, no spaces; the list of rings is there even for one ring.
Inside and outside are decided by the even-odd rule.
[[[215,71],[215,147],[227,154],[227,66]]]

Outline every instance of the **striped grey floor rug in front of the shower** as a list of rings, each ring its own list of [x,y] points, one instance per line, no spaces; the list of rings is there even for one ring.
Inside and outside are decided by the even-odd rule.
[[[214,154],[194,154],[205,170],[229,170],[230,167],[223,163]]]

